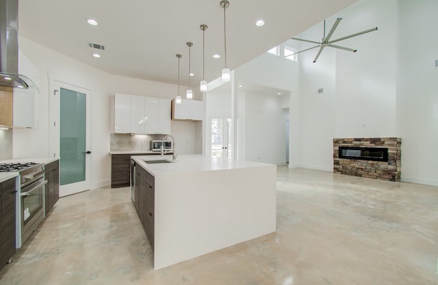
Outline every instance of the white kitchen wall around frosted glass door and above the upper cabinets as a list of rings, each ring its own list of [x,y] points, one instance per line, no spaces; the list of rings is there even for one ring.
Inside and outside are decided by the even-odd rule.
[[[49,83],[51,80],[59,80],[91,90],[92,188],[109,185],[111,113],[114,93],[172,99],[177,86],[111,75],[26,38],[20,38],[19,45],[21,52],[38,69],[40,74],[38,88],[41,96],[38,129],[14,131],[14,158],[51,156],[49,153],[49,94],[53,92],[53,86],[49,86]],[[194,123],[172,122],[172,134],[181,148],[181,153],[194,153]]]

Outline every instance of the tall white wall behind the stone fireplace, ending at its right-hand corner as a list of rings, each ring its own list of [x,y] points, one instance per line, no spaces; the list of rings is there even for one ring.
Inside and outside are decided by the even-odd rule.
[[[396,135],[396,8],[396,0],[361,1],[326,19],[328,33],[343,18],[333,40],[378,27],[336,43],[356,53],[326,47],[315,63],[318,48],[301,53],[300,166],[332,171],[333,138]],[[319,23],[297,38],[319,40],[323,27]],[[311,45],[303,43],[300,50]]]

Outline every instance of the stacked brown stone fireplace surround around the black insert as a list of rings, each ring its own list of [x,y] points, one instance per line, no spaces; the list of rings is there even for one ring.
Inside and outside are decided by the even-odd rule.
[[[333,172],[373,179],[400,181],[401,138],[333,138]],[[388,161],[339,158],[339,147],[385,147]]]

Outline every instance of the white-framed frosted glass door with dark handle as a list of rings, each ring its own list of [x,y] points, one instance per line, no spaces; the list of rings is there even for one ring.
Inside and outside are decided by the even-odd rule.
[[[91,188],[91,108],[88,89],[53,80],[49,149],[60,158],[60,197]]]

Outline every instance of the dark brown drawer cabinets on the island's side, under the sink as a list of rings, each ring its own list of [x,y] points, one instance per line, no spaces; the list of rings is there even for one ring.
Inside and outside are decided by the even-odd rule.
[[[142,167],[136,167],[136,209],[144,232],[153,250],[154,245],[154,216],[155,216],[155,178]],[[137,196],[138,194],[138,196]]]

